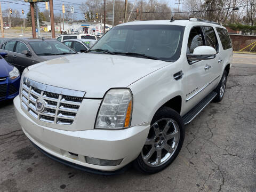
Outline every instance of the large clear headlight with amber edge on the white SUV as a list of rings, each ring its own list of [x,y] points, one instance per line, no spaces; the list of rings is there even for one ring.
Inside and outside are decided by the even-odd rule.
[[[132,93],[129,89],[109,90],[101,102],[95,128],[123,129],[130,127],[132,106]]]

